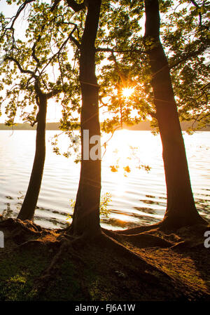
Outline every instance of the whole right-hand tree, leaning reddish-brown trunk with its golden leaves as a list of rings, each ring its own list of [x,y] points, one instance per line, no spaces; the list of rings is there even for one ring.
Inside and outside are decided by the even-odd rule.
[[[113,59],[113,67],[111,65],[106,65],[104,67],[105,71],[105,84],[104,84],[104,95],[106,94],[106,83],[107,78],[109,77],[112,81],[109,81],[109,91],[111,91],[111,84],[116,77],[120,78],[121,85],[127,83],[128,86],[133,86],[139,82],[144,81],[144,88],[137,88],[137,91],[143,91],[144,93],[148,92],[148,102],[138,103],[138,92],[134,93],[134,97],[130,100],[130,107],[136,108],[138,110],[139,117],[149,114],[158,122],[158,129],[160,130],[160,136],[162,139],[163,147],[163,160],[165,166],[165,177],[167,183],[167,210],[164,220],[161,222],[162,227],[180,227],[185,225],[191,225],[196,223],[204,223],[204,220],[197,212],[195,208],[195,201],[193,199],[193,193],[190,185],[190,176],[188,172],[188,163],[186,159],[186,151],[183,142],[183,137],[181,133],[181,127],[179,123],[179,114],[177,111],[176,100],[174,97],[174,90],[172,87],[172,80],[170,75],[170,68],[175,69],[179,66],[178,71],[174,71],[173,80],[175,82],[179,81],[179,75],[182,75],[181,79],[183,83],[188,83],[191,78],[191,83],[193,83],[193,88],[195,91],[200,91],[202,86],[206,87],[205,74],[207,71],[207,66],[204,64],[204,58],[201,58],[202,55],[207,50],[207,25],[202,25],[201,29],[195,27],[195,19],[191,18],[187,20],[190,23],[190,26],[187,23],[185,28],[186,32],[192,31],[195,37],[193,37],[192,42],[192,32],[188,34],[190,38],[189,41],[185,41],[182,38],[181,43],[177,44],[176,39],[173,35],[169,37],[169,33],[164,29],[162,34],[164,36],[165,42],[171,48],[170,53],[172,57],[170,58],[171,64],[165,55],[165,51],[162,48],[160,42],[160,13],[159,13],[159,1],[144,1],[145,12],[146,12],[146,27],[144,39],[141,39],[138,33],[130,34],[130,29],[127,28],[127,25],[130,25],[132,29],[135,19],[140,11],[139,17],[142,15],[142,4],[137,1],[128,4],[127,1],[120,1],[121,6],[116,6],[113,9],[112,13],[112,22],[109,25],[109,33],[106,36],[106,39],[102,43],[108,43],[108,48],[101,48],[99,51],[110,52]],[[165,12],[171,8],[172,1],[160,1],[162,11]],[[127,13],[126,8],[130,7],[129,13]],[[172,8],[171,8],[172,9]],[[204,10],[204,12],[207,10]],[[200,13],[198,13],[200,16]],[[124,15],[124,19],[123,19]],[[179,15],[180,16],[180,15]],[[171,16],[171,19],[173,16]],[[201,18],[200,18],[201,19]],[[203,19],[204,20],[204,19]],[[123,22],[121,22],[123,21]],[[193,22],[192,22],[193,21]],[[170,21],[172,25],[172,20]],[[167,23],[163,23],[163,28]],[[176,26],[176,27],[175,27]],[[183,28],[183,23],[174,25],[174,33],[181,32],[181,27]],[[190,28],[191,27],[191,28]],[[139,30],[137,29],[137,32]],[[182,30],[183,36],[186,36],[186,33]],[[121,37],[122,38],[121,38]],[[116,41],[113,41],[116,39]],[[138,42],[139,39],[139,42]],[[201,40],[202,39],[202,40]],[[118,55],[118,58],[114,55]],[[144,55],[148,56],[147,60],[144,59]],[[139,62],[138,59],[139,58]],[[199,69],[196,74],[197,77],[193,77],[189,71],[185,71],[186,62],[189,60],[196,60],[192,62],[193,65],[188,65],[188,69],[196,69],[195,65],[199,65]],[[119,60],[119,61],[118,61]],[[148,62],[148,64],[147,64]],[[189,63],[189,62],[188,62]],[[144,68],[146,68],[146,71]],[[149,66],[149,67],[148,67]],[[149,69],[149,72],[147,72]],[[177,68],[176,68],[177,69]],[[201,71],[204,69],[204,72]],[[181,72],[182,71],[182,72]],[[139,75],[138,75],[139,72]],[[200,73],[199,73],[200,72]],[[193,73],[193,72],[192,72]],[[104,73],[103,73],[104,74]],[[195,71],[194,71],[195,74]],[[138,79],[137,79],[138,75]],[[152,79],[150,79],[152,77]],[[135,79],[132,79],[135,78]],[[199,78],[198,82],[197,79]],[[187,82],[188,79],[188,82]],[[151,86],[153,93],[148,90],[148,83],[151,81]],[[194,109],[194,117],[200,115],[201,110],[204,110],[204,114],[201,115],[203,123],[208,122],[208,107],[207,107],[207,93],[202,93],[204,101],[200,99],[200,105],[197,106],[197,103],[194,103],[194,106],[189,107],[188,103],[185,104],[186,98],[190,98],[192,103],[192,93],[191,89],[188,88],[188,93],[184,94],[185,86],[179,82],[179,88],[176,87],[176,95],[181,106],[181,114],[183,118],[187,117],[192,118],[192,109]],[[194,94],[196,93],[194,91]],[[141,97],[142,98],[142,97]],[[141,100],[141,98],[139,98]],[[119,98],[117,96],[112,96],[111,99],[112,105],[109,105],[109,109],[113,109],[115,112],[118,111],[120,114],[120,104]],[[116,102],[117,100],[117,102]],[[153,104],[152,105],[152,101]],[[148,103],[148,105],[146,104]],[[190,114],[191,112],[191,114]],[[124,114],[125,121],[131,119],[129,109],[127,109],[127,116]],[[142,115],[142,116],[143,116]],[[203,120],[204,119],[204,120]],[[113,116],[113,119],[108,119],[105,122],[105,128],[112,130],[113,126],[118,126],[120,119],[116,120],[116,116]],[[157,125],[156,125],[157,126]]]

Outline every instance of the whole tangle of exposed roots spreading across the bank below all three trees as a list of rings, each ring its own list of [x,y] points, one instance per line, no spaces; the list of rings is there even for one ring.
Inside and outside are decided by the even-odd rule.
[[[9,219],[0,222],[0,229],[6,232],[6,240],[8,243],[14,241],[18,246],[11,248],[14,250],[38,250],[39,253],[48,253],[47,267],[41,272],[34,281],[33,290],[36,291],[37,297],[42,297],[45,290],[53,286],[53,283],[59,279],[62,264],[65,261],[73,261],[76,267],[78,278],[80,280],[80,290],[83,291],[83,296],[90,300],[87,281],[85,284],[83,270],[88,270],[90,265],[87,265],[86,256],[98,255],[97,253],[104,252],[103,255],[109,253],[110,259],[113,257],[115,264],[124,266],[128,274],[138,275],[139,283],[147,283],[147,286],[156,288],[160,286],[160,290],[169,288],[173,292],[176,285],[176,290],[183,289],[179,280],[176,283],[165,269],[162,270],[159,265],[153,264],[153,261],[144,259],[144,251],[161,250],[169,248],[176,251],[186,250],[186,248],[199,247],[202,244],[204,231],[207,229],[202,224],[194,227],[185,227],[177,231],[177,234],[165,233],[160,229],[159,224],[140,227],[137,229],[129,229],[126,231],[113,232],[107,229],[102,229],[101,233],[92,235],[88,232],[82,235],[73,235],[73,231],[69,233],[69,229],[42,229],[32,222],[22,222],[18,219]],[[144,230],[144,232],[142,232]],[[141,231],[140,233],[137,233]],[[131,232],[131,234],[127,234]],[[136,232],[136,234],[134,234]],[[194,234],[193,234],[194,233]],[[192,238],[190,239],[189,236]],[[199,237],[198,237],[199,236]],[[203,246],[203,244],[202,244]],[[92,251],[93,249],[93,251]],[[4,249],[6,251],[7,248]],[[2,253],[2,251],[1,251]],[[54,253],[54,255],[53,255]],[[53,257],[52,257],[53,255]],[[120,270],[120,269],[119,269]],[[165,287],[165,288],[164,288]],[[163,289],[164,288],[164,289]]]

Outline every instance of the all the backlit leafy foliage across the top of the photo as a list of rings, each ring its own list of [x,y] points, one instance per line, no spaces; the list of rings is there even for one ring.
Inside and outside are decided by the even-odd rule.
[[[20,8],[25,5],[25,1],[7,3],[18,4]],[[60,128],[71,133],[79,126],[78,47],[86,9],[74,14],[62,1],[57,6],[48,1],[31,1],[25,9],[28,13],[25,40],[20,35],[15,37],[15,19],[5,18],[1,13],[1,51],[18,60],[22,69],[37,75],[46,93],[52,89],[62,92],[56,97],[63,108]],[[171,67],[180,117],[195,121],[192,130],[203,128],[209,123],[209,4],[201,0],[161,0],[160,12],[161,38]],[[144,40],[143,19],[144,1],[102,1],[96,61],[102,130],[106,132],[113,133],[123,123],[132,125],[149,116],[153,119],[151,126],[157,128],[146,55],[148,45],[155,43],[153,39]],[[6,103],[8,125],[14,123],[19,109],[24,121],[36,122],[33,76],[20,74],[18,70],[18,65],[9,59],[0,69],[1,91],[8,86],[0,100],[1,104]],[[52,72],[54,78],[59,73],[57,79],[52,80]],[[130,98],[122,94],[127,87],[134,87]]]

